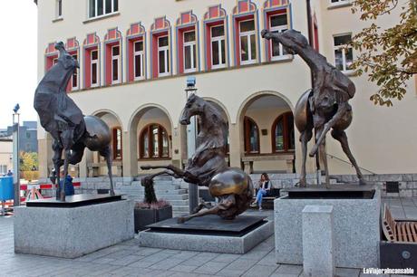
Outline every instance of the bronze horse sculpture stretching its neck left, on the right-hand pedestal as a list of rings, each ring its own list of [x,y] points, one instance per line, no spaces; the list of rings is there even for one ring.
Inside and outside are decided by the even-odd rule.
[[[305,161],[307,143],[313,137],[315,129],[316,142],[310,151],[310,157],[319,152],[325,167],[325,185],[330,186],[327,158],[325,153],[325,135],[332,129],[332,137],[338,140],[344,154],[356,170],[360,185],[364,185],[364,177],[352,154],[345,129],[352,123],[352,107],[348,103],[354,97],[354,82],[347,78],[310,46],[305,36],[295,30],[283,33],[262,31],[262,37],[281,43],[288,53],[298,54],[310,67],[313,73],[313,89],[305,91],[296,103],[294,118],[296,128],[301,133],[303,163],[301,168],[300,186],[306,186]]]

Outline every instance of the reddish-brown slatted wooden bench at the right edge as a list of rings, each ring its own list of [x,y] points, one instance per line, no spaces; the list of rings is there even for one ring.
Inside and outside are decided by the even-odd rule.
[[[383,207],[383,234],[388,242],[417,243],[417,220],[393,219],[387,205]]]

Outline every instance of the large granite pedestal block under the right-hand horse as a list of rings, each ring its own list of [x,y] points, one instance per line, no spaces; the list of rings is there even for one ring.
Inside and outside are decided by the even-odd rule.
[[[305,205],[333,205],[335,266],[377,267],[381,196],[305,199],[284,196],[274,201],[276,263],[303,263],[302,211]]]

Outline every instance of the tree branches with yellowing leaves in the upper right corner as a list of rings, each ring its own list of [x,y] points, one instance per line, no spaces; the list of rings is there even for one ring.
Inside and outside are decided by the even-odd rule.
[[[351,45],[360,53],[353,68],[378,85],[370,98],[375,105],[393,106],[392,100],[402,100],[407,81],[417,74],[417,1],[355,0],[352,10],[361,13],[361,20],[372,21],[353,37]],[[394,11],[401,13],[398,24],[383,30],[375,23]]]

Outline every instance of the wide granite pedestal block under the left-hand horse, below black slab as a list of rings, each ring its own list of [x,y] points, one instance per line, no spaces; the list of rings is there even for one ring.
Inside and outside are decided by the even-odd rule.
[[[134,236],[133,203],[15,207],[15,253],[76,258]]]

